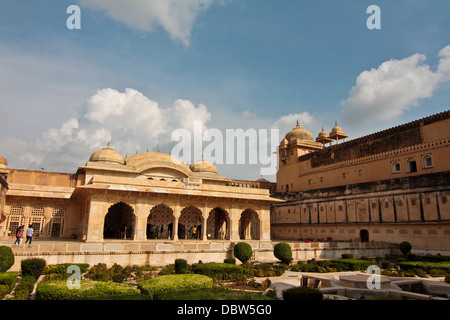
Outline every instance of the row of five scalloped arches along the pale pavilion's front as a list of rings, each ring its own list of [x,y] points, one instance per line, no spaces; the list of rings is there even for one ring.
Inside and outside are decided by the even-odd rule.
[[[126,202],[110,205],[103,218],[102,238],[122,240],[261,240],[262,223],[257,209],[237,210],[216,206],[167,205],[147,208]],[[144,212],[142,212],[142,210]],[[233,233],[234,231],[234,233]],[[237,240],[237,239],[234,239]]]

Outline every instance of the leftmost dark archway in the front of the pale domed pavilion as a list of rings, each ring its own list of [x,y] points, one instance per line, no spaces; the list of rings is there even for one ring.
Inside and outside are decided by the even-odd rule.
[[[103,227],[103,239],[133,239],[136,217],[133,208],[119,202],[108,209]]]

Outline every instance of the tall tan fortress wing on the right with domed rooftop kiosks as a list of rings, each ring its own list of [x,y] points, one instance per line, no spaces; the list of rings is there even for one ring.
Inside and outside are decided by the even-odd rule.
[[[450,252],[450,111],[368,136],[299,124],[279,146],[272,239],[409,241]]]

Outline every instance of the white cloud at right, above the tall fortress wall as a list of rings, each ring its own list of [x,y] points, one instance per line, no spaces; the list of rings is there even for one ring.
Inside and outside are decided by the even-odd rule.
[[[389,60],[377,69],[362,72],[347,100],[341,103],[344,122],[364,125],[394,119],[421,99],[430,98],[439,85],[450,79],[450,46],[439,52],[440,63],[433,72],[426,57],[414,54]]]

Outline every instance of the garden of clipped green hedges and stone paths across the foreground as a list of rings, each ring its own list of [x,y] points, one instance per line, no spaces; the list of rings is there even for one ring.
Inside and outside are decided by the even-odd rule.
[[[47,265],[21,261],[0,247],[0,295],[4,300],[449,300],[450,257],[406,252],[384,257],[342,254],[339,259],[293,261],[288,244],[275,246],[276,263],[250,261],[236,245],[217,263],[166,266]],[[9,266],[9,267],[8,267]]]

